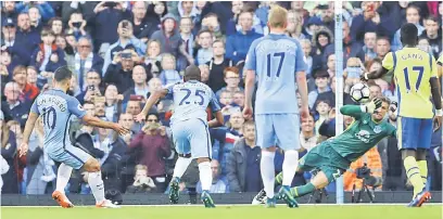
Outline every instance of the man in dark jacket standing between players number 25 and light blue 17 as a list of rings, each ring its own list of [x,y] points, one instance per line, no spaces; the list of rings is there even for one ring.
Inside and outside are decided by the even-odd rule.
[[[261,149],[255,144],[255,125],[246,121],[242,129],[244,137],[236,142],[228,156],[229,191],[257,192],[263,184],[260,173]]]

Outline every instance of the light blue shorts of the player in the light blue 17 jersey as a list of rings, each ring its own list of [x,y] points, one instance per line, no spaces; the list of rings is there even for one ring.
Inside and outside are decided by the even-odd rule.
[[[256,143],[262,149],[279,146],[282,150],[300,149],[299,114],[255,115]]]

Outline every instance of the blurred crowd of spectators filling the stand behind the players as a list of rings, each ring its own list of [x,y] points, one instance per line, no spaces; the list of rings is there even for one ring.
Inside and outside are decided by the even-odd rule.
[[[34,99],[51,88],[53,72],[67,65],[75,76],[69,93],[90,115],[131,129],[127,136],[73,121],[71,140],[102,165],[106,194],[164,193],[172,178],[175,153],[168,128],[173,105],[160,101],[139,124],[144,102],[155,90],[182,79],[190,64],[216,93],[226,124],[211,129],[213,193],[257,192],[261,150],[254,121],[245,120],[243,65],[252,41],[268,34],[271,4],[289,10],[287,34],[300,40],[308,65],[312,116],[302,123],[301,155],[336,136],[334,3],[316,2],[1,2],[1,155],[10,169],[2,175],[3,193],[50,194],[58,164],[42,145],[42,124],[31,134],[30,152],[18,157],[17,145]],[[400,27],[419,29],[419,47],[442,53],[443,4],[427,2],[343,2],[344,104],[355,104],[349,91],[365,72],[381,67],[388,52],[402,48]],[[290,73],[288,73],[290,74]],[[396,100],[392,74],[369,82],[371,98]],[[393,103],[395,107],[395,103]],[[212,114],[210,112],[208,119]],[[387,119],[395,125],[396,116]],[[349,126],[352,118],[345,117]],[[442,188],[442,133],[434,133],[428,157],[431,190]],[[277,153],[276,170],[283,155]],[[367,164],[380,179],[377,190],[408,190],[396,139],[384,139],[353,163],[344,175],[346,191],[362,188],[357,169]],[[67,193],[89,194],[87,172],[73,173]],[[180,184],[182,192],[201,190],[197,165]],[[298,175],[304,184],[309,172]],[[334,191],[334,183],[328,186]]]

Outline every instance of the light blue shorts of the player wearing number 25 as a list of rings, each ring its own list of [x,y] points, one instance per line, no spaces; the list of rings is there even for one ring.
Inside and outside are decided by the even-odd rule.
[[[212,145],[206,123],[201,119],[174,121],[170,125],[178,154],[191,154],[192,158],[212,158]]]

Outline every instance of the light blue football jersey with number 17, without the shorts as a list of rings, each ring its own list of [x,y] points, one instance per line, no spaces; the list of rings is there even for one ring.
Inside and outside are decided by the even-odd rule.
[[[306,68],[296,39],[269,34],[254,40],[246,55],[245,69],[255,70],[257,77],[255,114],[299,113],[295,73]]]

